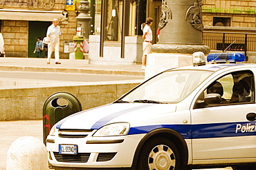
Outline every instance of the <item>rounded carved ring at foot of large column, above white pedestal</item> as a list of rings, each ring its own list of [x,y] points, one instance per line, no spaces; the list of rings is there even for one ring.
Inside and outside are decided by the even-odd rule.
[[[154,44],[152,45],[154,53],[181,53],[193,54],[194,52],[210,53],[210,47],[207,45],[176,45],[176,44]]]

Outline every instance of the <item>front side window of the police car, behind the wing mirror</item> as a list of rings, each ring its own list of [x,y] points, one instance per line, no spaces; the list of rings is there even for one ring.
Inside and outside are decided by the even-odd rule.
[[[208,94],[212,94],[213,96],[210,102],[207,102],[207,99],[211,97]],[[253,72],[249,70],[232,72],[221,76],[221,78],[213,81],[205,88],[196,101],[194,108],[252,103],[255,101],[254,94]],[[199,104],[199,100],[203,100],[203,102]]]

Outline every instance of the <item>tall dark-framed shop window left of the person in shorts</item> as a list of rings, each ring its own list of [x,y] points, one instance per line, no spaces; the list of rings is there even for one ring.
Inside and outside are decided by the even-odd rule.
[[[140,3],[139,3],[140,2]],[[104,42],[113,41],[120,45],[121,58],[125,57],[125,36],[142,33],[138,25],[145,22],[147,0],[104,0],[101,1],[100,56],[103,57]],[[141,7],[143,6],[143,8]],[[143,19],[143,22],[141,21]],[[109,42],[108,42],[109,43]]]

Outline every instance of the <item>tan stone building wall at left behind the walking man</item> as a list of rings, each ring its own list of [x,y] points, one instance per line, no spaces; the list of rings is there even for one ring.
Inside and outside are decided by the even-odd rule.
[[[62,29],[60,53],[66,58],[64,42],[72,41],[76,33],[76,17],[73,1],[68,4],[66,0],[1,0],[0,32],[5,41],[6,56],[35,57],[33,50],[37,36],[43,39],[48,26],[57,18]]]

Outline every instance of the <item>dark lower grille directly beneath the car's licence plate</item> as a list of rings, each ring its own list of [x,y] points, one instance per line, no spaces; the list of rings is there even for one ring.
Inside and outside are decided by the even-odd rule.
[[[84,163],[84,162],[87,162],[90,157],[90,153],[77,153],[76,155],[60,154],[57,152],[53,152],[53,153],[54,153],[55,159],[58,162]]]

